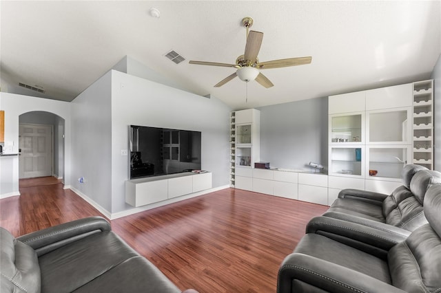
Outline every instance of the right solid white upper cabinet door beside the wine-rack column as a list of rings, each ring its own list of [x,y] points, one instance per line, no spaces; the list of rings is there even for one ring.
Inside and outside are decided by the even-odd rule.
[[[412,105],[412,84],[382,87],[366,91],[366,111]]]

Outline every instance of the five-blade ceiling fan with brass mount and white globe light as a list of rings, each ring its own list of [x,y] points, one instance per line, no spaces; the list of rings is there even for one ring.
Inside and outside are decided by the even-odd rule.
[[[252,80],[256,80],[258,83],[260,83],[260,85],[269,88],[274,85],[266,76],[260,73],[260,69],[272,69],[311,63],[311,56],[259,62],[257,55],[260,50],[260,45],[262,44],[263,32],[256,32],[254,30],[249,31],[249,28],[251,28],[251,26],[253,25],[253,19],[251,17],[245,17],[244,19],[242,19],[242,24],[247,29],[247,43],[245,45],[245,53],[238,56],[238,58],[236,59],[236,64],[189,61],[190,64],[196,65],[237,68],[234,74],[227,76],[227,78],[224,78],[223,80],[220,80],[220,82],[214,85],[214,87],[221,87],[225,85],[225,83],[228,83],[229,80],[232,80],[233,78],[238,76],[240,80],[243,80],[246,83]]]

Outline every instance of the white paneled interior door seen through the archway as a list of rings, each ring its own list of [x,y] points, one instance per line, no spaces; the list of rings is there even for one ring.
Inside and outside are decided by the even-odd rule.
[[[52,126],[19,124],[19,178],[52,175]]]

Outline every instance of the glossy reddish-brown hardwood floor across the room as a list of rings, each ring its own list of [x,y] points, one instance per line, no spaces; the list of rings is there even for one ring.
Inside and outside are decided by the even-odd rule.
[[[101,215],[61,183],[0,200],[15,236]],[[112,229],[181,290],[276,292],[278,267],[327,206],[227,188],[111,221]]]

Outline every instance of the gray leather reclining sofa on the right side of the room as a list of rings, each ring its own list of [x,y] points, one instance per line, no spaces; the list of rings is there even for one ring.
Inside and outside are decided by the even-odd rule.
[[[344,190],[280,265],[277,292],[441,292],[441,173],[391,195]]]

